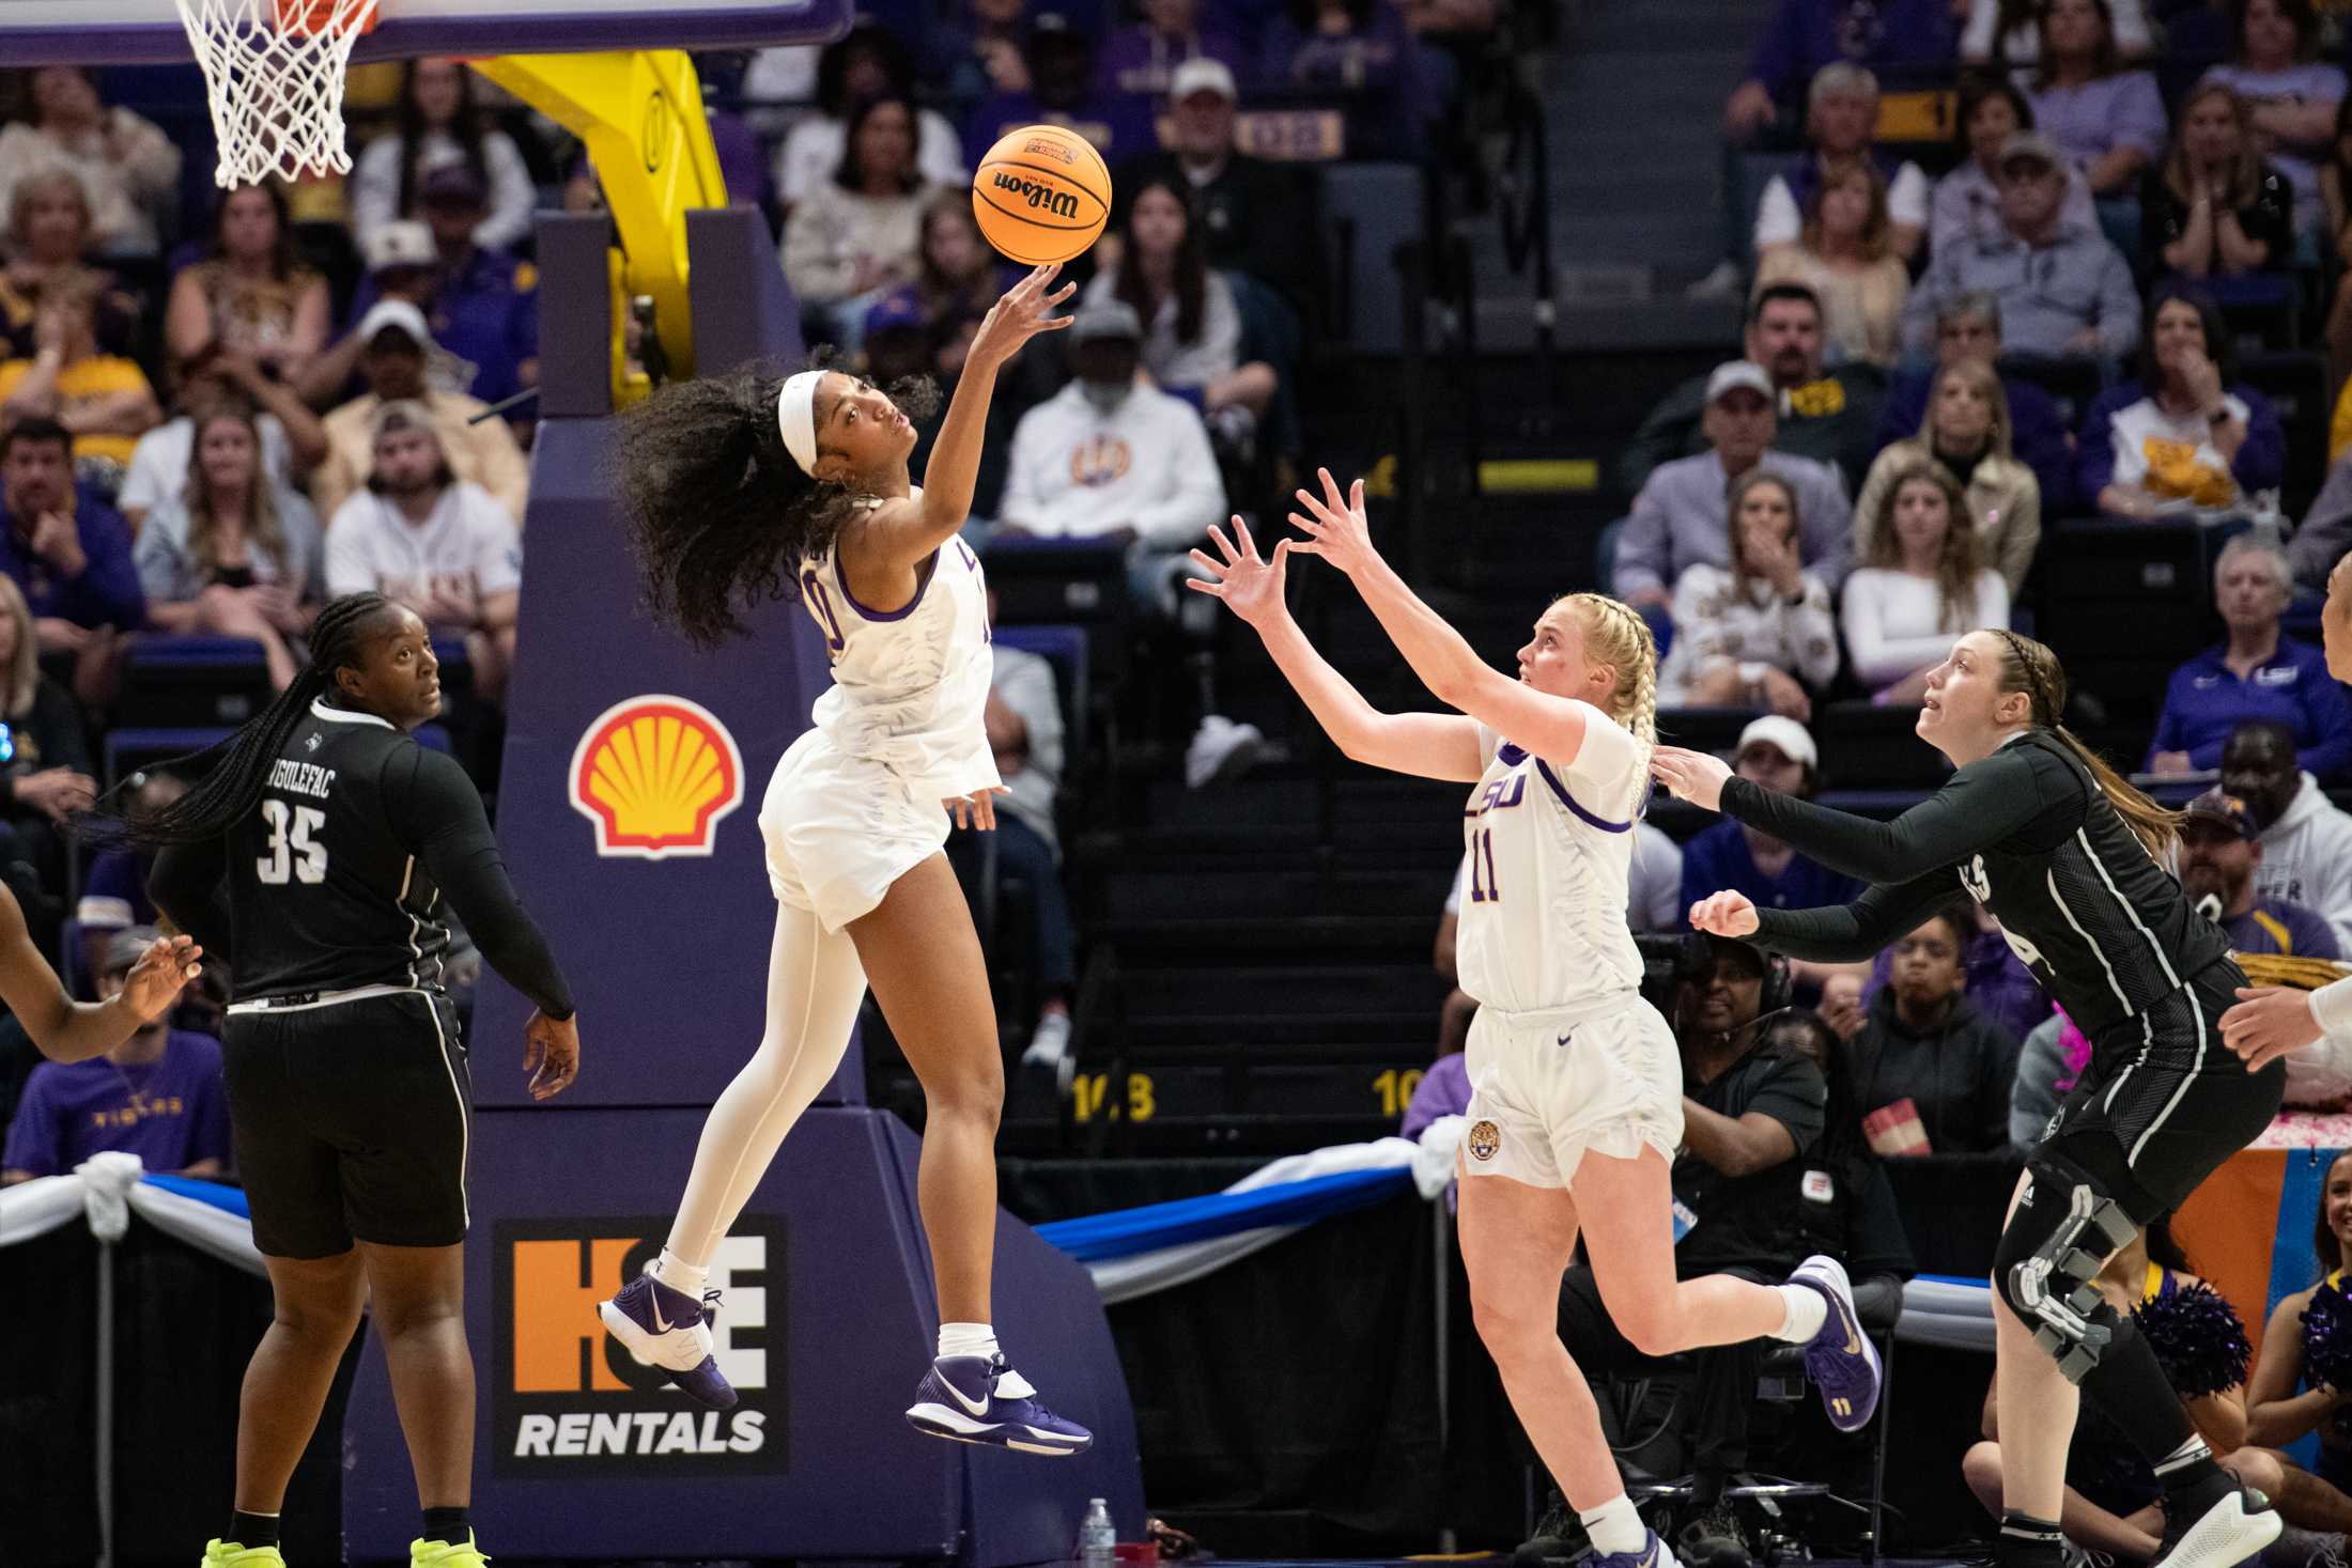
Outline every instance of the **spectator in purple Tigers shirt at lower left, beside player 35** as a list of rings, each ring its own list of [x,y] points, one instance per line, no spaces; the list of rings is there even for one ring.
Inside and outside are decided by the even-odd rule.
[[[101,999],[122,990],[153,940],[153,929],[132,926],[108,943]],[[106,1056],[33,1067],[0,1152],[0,1182],[64,1175],[106,1150],[136,1154],[148,1171],[221,1175],[230,1159],[221,1041],[155,1018]]]

